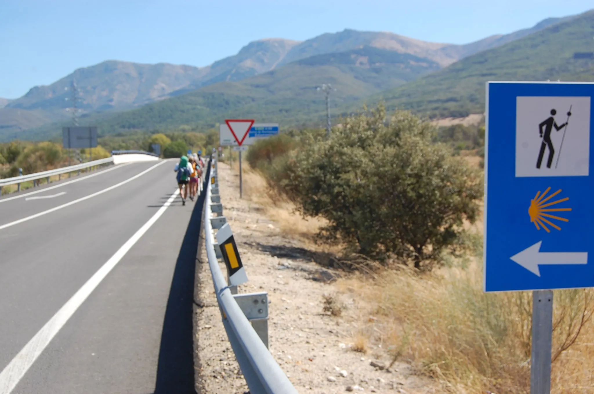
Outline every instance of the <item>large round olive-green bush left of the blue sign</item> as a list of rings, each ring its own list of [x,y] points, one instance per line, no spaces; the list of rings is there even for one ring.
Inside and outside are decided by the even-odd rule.
[[[479,172],[432,143],[433,134],[409,112],[386,122],[378,106],[346,118],[328,140],[302,138],[299,149],[273,160],[271,181],[303,215],[328,220],[328,239],[429,268],[445,247],[463,247],[463,221],[476,219],[483,193]]]

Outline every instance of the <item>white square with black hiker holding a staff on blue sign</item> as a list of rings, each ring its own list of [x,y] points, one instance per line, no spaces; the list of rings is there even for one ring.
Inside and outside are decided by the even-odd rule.
[[[587,176],[590,97],[516,98],[516,176]]]

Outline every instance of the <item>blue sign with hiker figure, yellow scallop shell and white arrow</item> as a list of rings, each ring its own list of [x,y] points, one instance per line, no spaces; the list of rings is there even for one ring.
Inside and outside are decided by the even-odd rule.
[[[487,83],[485,291],[594,287],[592,96]]]

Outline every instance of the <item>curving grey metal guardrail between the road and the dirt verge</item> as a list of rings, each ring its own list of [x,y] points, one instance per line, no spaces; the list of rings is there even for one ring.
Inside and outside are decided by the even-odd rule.
[[[213,226],[216,229],[220,229],[222,226],[225,226],[226,219],[224,216],[212,217],[213,205],[220,206],[217,166],[216,159],[213,155],[206,174],[208,186],[206,188],[203,222],[208,266],[210,266],[214,291],[216,292],[219,308],[223,316],[223,326],[225,326],[229,342],[233,348],[233,352],[235,352],[235,358],[244,374],[251,394],[297,394],[297,390],[293,387],[289,378],[287,378],[279,364],[276,363],[276,360],[270,354],[270,351],[268,351],[267,320],[264,320],[266,323],[266,331],[264,332],[262,324],[255,324],[258,322],[262,323],[263,319],[251,316],[252,313],[263,313],[263,308],[256,307],[258,310],[252,312],[251,310],[254,309],[253,305],[251,310],[248,307],[251,302],[245,302],[245,299],[251,296],[254,304],[256,304],[260,302],[258,300],[263,300],[264,297],[267,300],[267,295],[263,293],[233,295],[232,286],[228,285],[220,269],[217,254],[219,256],[221,254],[218,244],[214,242]],[[213,193],[213,191],[216,191],[216,193]],[[222,206],[220,206],[220,210],[216,210],[222,215]],[[266,301],[266,317],[267,307],[268,302]],[[250,323],[250,320],[252,323]],[[266,343],[263,342],[263,336]]]

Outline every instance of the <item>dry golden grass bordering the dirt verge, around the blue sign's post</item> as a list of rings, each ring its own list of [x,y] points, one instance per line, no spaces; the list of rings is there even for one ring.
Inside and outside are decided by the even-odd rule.
[[[289,203],[266,193],[266,181],[250,170],[244,172],[244,187],[244,196],[265,207],[288,235],[311,239],[323,225],[302,219]],[[466,229],[480,238],[482,223]],[[412,363],[444,392],[528,393],[531,292],[485,294],[479,257],[450,263],[425,275],[402,267],[340,279],[340,291],[356,294],[368,308],[359,311],[365,328],[351,348],[364,352],[381,343],[393,362]],[[340,310],[335,301],[335,295],[324,298],[326,313]],[[594,393],[593,310],[594,290],[555,291],[554,394]]]

